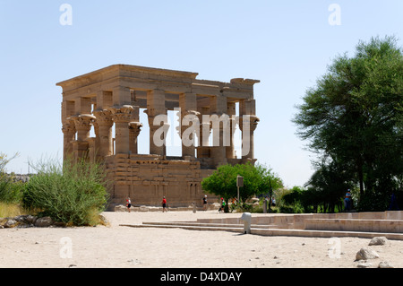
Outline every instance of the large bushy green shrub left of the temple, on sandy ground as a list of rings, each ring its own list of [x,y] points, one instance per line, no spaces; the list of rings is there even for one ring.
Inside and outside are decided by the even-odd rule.
[[[94,212],[102,212],[107,204],[103,166],[81,160],[72,163],[39,163],[38,174],[26,184],[22,204],[76,226],[94,225]]]

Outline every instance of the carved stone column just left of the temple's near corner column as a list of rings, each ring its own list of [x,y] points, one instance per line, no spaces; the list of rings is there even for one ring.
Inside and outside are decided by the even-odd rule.
[[[93,114],[97,117],[95,124],[98,126],[98,134],[96,133],[98,157],[103,159],[106,156],[113,155],[112,126],[114,121],[110,110],[95,110]]]

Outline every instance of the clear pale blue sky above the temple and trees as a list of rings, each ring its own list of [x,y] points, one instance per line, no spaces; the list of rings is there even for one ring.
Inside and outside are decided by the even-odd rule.
[[[72,25],[59,21],[62,4]],[[338,4],[341,25],[330,25]],[[334,18],[331,18],[334,19]],[[244,77],[255,85],[255,157],[303,186],[314,155],[291,118],[332,58],[359,40],[394,35],[403,46],[401,0],[21,1],[0,0],[0,152],[26,173],[28,160],[61,157],[61,82],[114,64]]]

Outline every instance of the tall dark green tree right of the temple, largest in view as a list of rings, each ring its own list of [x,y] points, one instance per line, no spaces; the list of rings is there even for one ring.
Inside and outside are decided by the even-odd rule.
[[[313,152],[350,171],[360,196],[390,193],[403,173],[403,52],[387,37],[337,56],[293,121]]]

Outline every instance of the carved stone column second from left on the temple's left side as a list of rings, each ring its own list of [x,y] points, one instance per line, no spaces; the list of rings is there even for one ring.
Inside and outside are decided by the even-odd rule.
[[[95,117],[90,114],[81,114],[72,118],[77,130],[77,140],[73,142],[74,160],[87,159],[89,150],[87,139],[90,138],[90,129]]]

